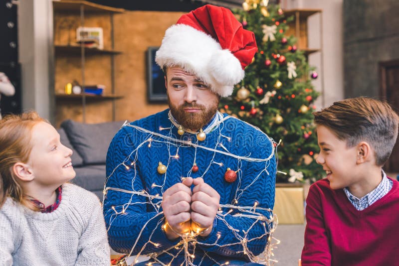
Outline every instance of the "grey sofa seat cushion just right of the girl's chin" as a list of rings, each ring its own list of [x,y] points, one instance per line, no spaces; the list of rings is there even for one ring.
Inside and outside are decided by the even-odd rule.
[[[74,167],[74,169],[76,176],[71,180],[71,183],[90,191],[102,191],[104,189],[105,164]]]

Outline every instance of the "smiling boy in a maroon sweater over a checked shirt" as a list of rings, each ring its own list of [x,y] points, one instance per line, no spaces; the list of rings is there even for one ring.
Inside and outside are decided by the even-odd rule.
[[[382,170],[398,115],[364,97],[313,114],[327,178],[309,189],[302,266],[398,265],[399,185]]]

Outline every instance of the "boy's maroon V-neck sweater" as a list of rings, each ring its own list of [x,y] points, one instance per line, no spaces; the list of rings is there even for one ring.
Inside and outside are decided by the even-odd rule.
[[[394,266],[398,263],[399,183],[362,211],[327,179],[306,199],[303,266]]]

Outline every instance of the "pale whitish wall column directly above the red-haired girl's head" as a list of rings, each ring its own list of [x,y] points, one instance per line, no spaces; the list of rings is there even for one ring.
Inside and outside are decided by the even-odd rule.
[[[22,109],[36,110],[43,118],[52,120],[52,2],[22,0],[18,4]]]

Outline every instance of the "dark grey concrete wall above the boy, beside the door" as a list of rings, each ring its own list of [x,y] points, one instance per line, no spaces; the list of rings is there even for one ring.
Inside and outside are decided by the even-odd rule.
[[[399,59],[398,12],[398,0],[344,0],[345,97],[379,96],[379,62]]]

